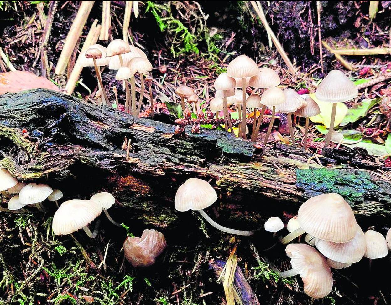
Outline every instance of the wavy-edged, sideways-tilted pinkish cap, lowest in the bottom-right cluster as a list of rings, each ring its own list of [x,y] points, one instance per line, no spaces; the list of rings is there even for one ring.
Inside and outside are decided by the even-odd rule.
[[[304,292],[314,299],[323,298],[333,288],[330,267],[323,255],[305,244],[290,244],[285,252],[291,258],[292,269],[303,280]]]

